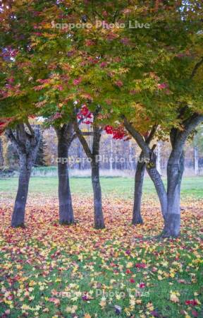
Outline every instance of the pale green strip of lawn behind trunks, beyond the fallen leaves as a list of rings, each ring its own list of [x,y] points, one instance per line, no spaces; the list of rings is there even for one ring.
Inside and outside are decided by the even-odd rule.
[[[166,183],[166,180],[164,180]],[[92,185],[90,178],[70,179],[73,194],[90,194]],[[18,187],[18,178],[0,179],[0,194],[13,198]],[[32,177],[30,181],[30,195],[43,194],[44,196],[57,196],[57,177]],[[124,177],[101,177],[101,187],[104,196],[123,196],[125,199],[133,198],[134,178]],[[143,193],[155,194],[152,181],[147,177],[144,180]],[[203,199],[203,177],[185,177],[182,185],[182,195]]]

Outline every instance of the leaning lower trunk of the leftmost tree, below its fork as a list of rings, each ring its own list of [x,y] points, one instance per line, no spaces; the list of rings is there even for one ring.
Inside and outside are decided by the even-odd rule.
[[[34,158],[27,158],[27,154],[20,153],[20,176],[18,180],[18,192],[16,196],[15,206],[11,226],[13,228],[23,227],[25,223],[25,205],[27,202],[27,194]]]

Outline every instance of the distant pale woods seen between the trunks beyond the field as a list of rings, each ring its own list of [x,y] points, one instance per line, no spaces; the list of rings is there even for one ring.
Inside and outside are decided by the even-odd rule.
[[[91,144],[92,136],[87,136]],[[157,167],[160,172],[166,171],[170,146],[167,141],[159,141],[156,147]],[[111,136],[102,134],[99,163],[101,170],[135,170],[140,148],[132,139],[128,141],[112,141]],[[90,170],[90,162],[78,139],[70,147],[68,160],[72,170]],[[5,136],[0,137],[0,167],[1,170],[18,170],[18,151]],[[44,131],[39,143],[35,167],[50,167],[57,165],[57,139],[53,128]],[[199,175],[203,168],[203,126],[200,126],[194,138],[187,142],[185,149],[185,168]]]

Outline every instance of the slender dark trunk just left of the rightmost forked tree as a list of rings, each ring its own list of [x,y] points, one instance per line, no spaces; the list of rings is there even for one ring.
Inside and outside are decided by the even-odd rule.
[[[143,224],[141,215],[141,201],[142,201],[142,187],[144,182],[145,163],[142,163],[142,154],[137,163],[135,173],[135,192],[134,192],[134,206],[133,206],[133,220],[132,224]]]

